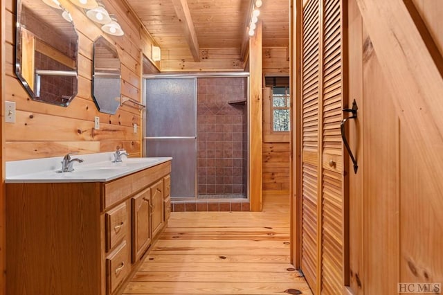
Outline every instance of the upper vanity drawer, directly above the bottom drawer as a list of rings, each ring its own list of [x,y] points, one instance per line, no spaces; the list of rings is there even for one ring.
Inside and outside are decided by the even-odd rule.
[[[105,213],[106,251],[111,250],[125,238],[127,233],[127,207],[123,203]]]

